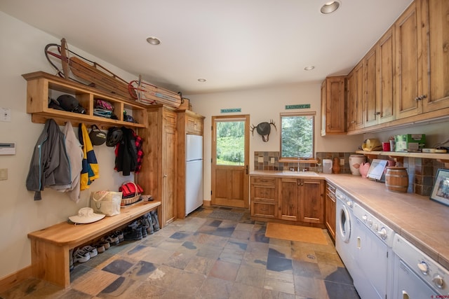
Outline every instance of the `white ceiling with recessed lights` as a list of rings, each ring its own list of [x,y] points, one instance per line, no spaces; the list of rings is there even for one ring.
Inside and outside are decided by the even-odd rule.
[[[327,1],[0,0],[0,10],[136,78],[193,95],[347,74],[412,0],[340,0],[323,15]]]

